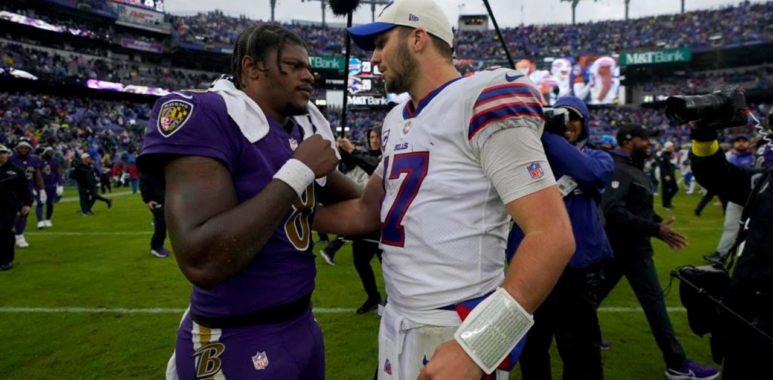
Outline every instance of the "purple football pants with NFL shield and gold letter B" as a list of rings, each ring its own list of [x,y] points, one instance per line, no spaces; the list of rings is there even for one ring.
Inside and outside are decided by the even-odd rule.
[[[290,321],[210,329],[186,315],[177,331],[180,380],[325,378],[322,330],[311,310]]]

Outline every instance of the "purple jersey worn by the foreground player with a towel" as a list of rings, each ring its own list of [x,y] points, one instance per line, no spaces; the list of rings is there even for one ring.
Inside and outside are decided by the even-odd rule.
[[[156,102],[138,165],[144,174],[158,178],[168,155],[217,159],[230,171],[238,200],[244,202],[271,182],[302,139],[298,125],[287,133],[278,122],[269,119],[269,124],[269,133],[252,144],[228,116],[220,95],[173,93]],[[314,187],[309,186],[304,199],[296,199],[250,264],[214,289],[193,287],[193,313],[243,315],[293,301],[314,289],[310,228]]]

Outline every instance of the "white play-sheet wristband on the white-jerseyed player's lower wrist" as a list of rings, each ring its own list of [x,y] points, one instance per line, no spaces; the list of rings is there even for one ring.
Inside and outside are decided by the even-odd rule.
[[[506,290],[497,290],[476,306],[456,330],[454,339],[483,372],[491,374],[534,324]]]

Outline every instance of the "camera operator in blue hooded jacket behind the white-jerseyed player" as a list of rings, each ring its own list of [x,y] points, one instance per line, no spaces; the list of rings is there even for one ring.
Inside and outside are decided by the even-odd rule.
[[[521,373],[524,380],[550,378],[550,344],[555,336],[564,379],[602,379],[596,306],[603,278],[601,261],[612,257],[612,248],[598,203],[612,179],[614,162],[609,153],[586,145],[590,112],[580,98],[561,97],[554,107],[557,112],[545,124],[542,144],[572,221],[576,251],[534,313],[534,326],[520,358]],[[522,239],[523,232],[515,225],[508,239],[508,258]]]

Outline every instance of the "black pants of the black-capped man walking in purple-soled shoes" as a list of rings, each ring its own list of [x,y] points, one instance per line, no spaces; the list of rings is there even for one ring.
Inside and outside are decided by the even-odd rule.
[[[652,253],[615,250],[615,258],[605,263],[604,274],[606,277],[602,293],[604,297],[614,289],[620,278],[625,276],[628,279],[639,300],[639,305],[644,309],[644,315],[647,317],[652,335],[655,336],[655,342],[663,353],[666,366],[682,368],[687,357],[671,326]]]

